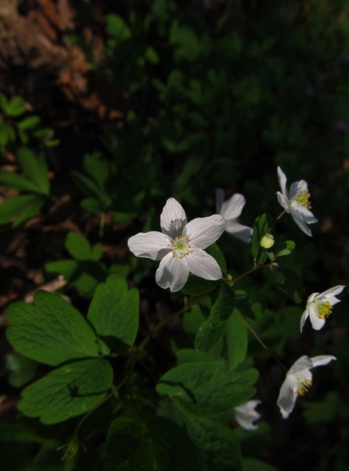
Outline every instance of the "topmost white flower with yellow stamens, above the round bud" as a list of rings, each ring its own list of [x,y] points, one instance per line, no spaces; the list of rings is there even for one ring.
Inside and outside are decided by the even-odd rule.
[[[281,191],[277,191],[278,201],[285,210],[290,213],[293,220],[306,235],[312,235],[307,224],[318,222],[313,213],[310,211],[310,193],[308,184],[305,180],[293,182],[290,186],[290,192],[286,188],[287,178],[285,173],[278,167],[278,177]]]

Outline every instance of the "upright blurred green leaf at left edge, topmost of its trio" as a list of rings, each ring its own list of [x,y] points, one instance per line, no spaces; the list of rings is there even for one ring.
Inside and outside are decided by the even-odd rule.
[[[49,194],[50,180],[47,176],[45,157],[36,157],[34,152],[27,147],[20,147],[17,152],[17,159],[20,162],[24,175],[36,184],[41,193]]]

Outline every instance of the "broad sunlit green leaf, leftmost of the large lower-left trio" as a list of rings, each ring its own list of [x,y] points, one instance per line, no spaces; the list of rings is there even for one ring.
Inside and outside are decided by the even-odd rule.
[[[18,352],[47,365],[98,356],[96,334],[75,307],[47,291],[38,291],[34,303],[8,309],[6,335]]]

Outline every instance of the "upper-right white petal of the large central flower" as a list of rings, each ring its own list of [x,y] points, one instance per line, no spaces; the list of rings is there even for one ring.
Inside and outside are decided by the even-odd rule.
[[[225,230],[225,219],[220,215],[197,217],[186,224],[183,235],[188,235],[196,249],[205,249],[216,242]]]

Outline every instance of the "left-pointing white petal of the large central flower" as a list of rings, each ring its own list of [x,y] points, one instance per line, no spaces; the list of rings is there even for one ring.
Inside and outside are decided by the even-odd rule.
[[[128,248],[135,256],[152,260],[163,259],[171,250],[168,247],[170,243],[171,239],[168,235],[157,231],[140,232],[127,241]]]

